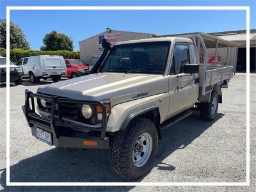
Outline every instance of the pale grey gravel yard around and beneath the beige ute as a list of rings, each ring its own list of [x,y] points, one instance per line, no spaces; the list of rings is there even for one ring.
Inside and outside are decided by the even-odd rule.
[[[6,186],[6,85],[0,84],[0,191],[255,191],[256,74],[251,81],[250,184],[216,186]],[[10,88],[11,182],[125,182],[112,172],[108,150],[63,150],[31,136],[22,113],[24,90],[36,92],[39,84],[24,82]],[[236,74],[223,89],[223,104],[212,122],[198,112],[163,130],[153,168],[138,182],[246,182],[246,76]]]

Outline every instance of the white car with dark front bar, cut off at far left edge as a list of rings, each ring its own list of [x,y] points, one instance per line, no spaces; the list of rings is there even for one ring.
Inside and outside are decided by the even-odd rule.
[[[21,67],[14,65],[12,61],[10,61],[10,82],[14,82],[15,84],[21,84],[23,75],[23,70]],[[6,58],[0,56],[0,82],[6,82]]]

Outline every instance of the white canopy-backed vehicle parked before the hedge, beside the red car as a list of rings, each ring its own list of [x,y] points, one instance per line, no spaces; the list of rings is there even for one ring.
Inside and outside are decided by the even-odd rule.
[[[16,64],[23,68],[24,76],[29,77],[31,83],[40,81],[41,78],[51,77],[52,81],[60,81],[61,75],[67,73],[63,56],[40,55],[22,58]]]

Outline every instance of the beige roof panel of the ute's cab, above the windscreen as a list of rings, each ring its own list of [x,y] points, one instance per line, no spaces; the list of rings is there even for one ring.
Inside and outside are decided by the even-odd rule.
[[[145,43],[145,42],[188,42],[192,43],[190,38],[182,38],[182,37],[159,37],[159,38],[143,38],[139,40],[129,40],[125,42],[118,42],[115,45],[124,45],[124,44],[137,44],[137,43]]]

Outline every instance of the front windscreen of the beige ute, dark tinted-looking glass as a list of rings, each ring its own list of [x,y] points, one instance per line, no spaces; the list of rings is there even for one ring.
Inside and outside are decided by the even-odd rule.
[[[100,72],[163,74],[170,42],[145,42],[116,45]]]

